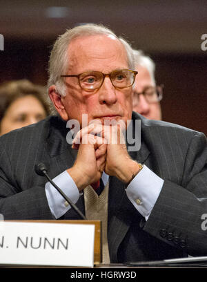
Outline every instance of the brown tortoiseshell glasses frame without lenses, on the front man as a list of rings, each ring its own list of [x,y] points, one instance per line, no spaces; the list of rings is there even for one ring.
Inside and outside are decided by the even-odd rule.
[[[128,69],[115,70],[115,71],[112,71],[111,73],[101,73],[101,71],[91,71],[91,72],[86,71],[86,72],[84,72],[84,73],[101,73],[101,74],[103,75],[103,80],[102,80],[102,82],[101,82],[101,85],[100,85],[99,87],[97,87],[97,88],[92,88],[92,89],[90,89],[90,88],[83,88],[83,87],[81,86],[79,77],[80,77],[81,75],[83,75],[83,73],[80,73],[79,75],[61,75],[61,77],[77,77],[77,78],[78,78],[78,81],[79,81],[79,86],[80,86],[83,90],[88,90],[88,91],[94,91],[94,90],[96,90],[96,89],[101,88],[101,86],[103,85],[104,79],[105,79],[105,77],[107,77],[107,76],[110,78],[110,82],[112,83],[112,86],[114,86],[115,88],[123,89],[123,88],[128,88],[128,87],[130,87],[130,86],[117,87],[117,86],[115,86],[115,85],[113,84],[112,79],[111,79],[110,76],[111,76],[112,73],[115,73],[116,71],[130,71],[131,73],[133,73],[133,74],[134,74],[133,82],[132,82],[132,84],[130,84],[130,86],[132,86],[132,85],[134,84],[134,82],[135,82],[135,77],[136,77],[138,71],[132,71],[132,70],[128,70]]]

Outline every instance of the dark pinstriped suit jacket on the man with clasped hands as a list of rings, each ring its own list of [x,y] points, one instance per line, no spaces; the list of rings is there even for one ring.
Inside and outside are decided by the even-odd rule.
[[[131,152],[164,179],[147,221],[126,196],[124,183],[110,177],[108,245],[112,263],[207,255],[206,137],[175,124],[141,119],[141,149]],[[12,131],[0,138],[0,213],[7,219],[52,219],[46,179],[34,165],[44,162],[54,178],[72,167],[77,151],[66,142],[66,123],[57,117]],[[69,188],[69,187],[68,187]],[[83,197],[77,206],[84,213]],[[70,209],[61,219],[77,219]],[[83,238],[84,241],[84,238]]]

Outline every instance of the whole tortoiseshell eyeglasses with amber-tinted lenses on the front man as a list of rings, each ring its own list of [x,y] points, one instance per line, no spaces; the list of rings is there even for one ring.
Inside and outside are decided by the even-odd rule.
[[[115,88],[127,88],[135,82],[137,71],[115,70],[111,73],[101,73],[100,71],[89,71],[79,75],[61,75],[61,77],[77,77],[79,86],[84,90],[95,90],[101,87],[106,76]]]

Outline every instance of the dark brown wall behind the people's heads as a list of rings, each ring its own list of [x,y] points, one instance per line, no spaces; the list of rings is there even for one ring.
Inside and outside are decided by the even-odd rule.
[[[0,83],[46,84],[57,35],[85,22],[103,23],[145,50],[164,84],[163,119],[207,134],[207,1],[0,1]]]

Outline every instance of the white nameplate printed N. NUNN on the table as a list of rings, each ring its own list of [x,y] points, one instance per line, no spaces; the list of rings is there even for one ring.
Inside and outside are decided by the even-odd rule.
[[[92,267],[95,225],[0,222],[0,264]]]

